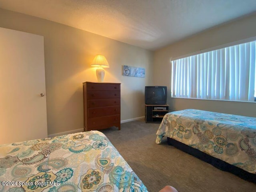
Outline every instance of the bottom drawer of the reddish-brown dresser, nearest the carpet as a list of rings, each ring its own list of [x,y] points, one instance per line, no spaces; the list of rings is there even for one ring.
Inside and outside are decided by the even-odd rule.
[[[88,119],[88,128],[102,126],[106,124],[114,124],[120,122],[120,115],[104,116]]]

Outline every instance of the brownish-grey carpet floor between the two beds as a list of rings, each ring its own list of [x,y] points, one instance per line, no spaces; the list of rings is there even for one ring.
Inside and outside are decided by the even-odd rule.
[[[102,130],[149,192],[166,185],[179,192],[256,192],[256,184],[169,146],[166,138],[156,144],[158,126],[138,120],[121,124],[120,131]]]

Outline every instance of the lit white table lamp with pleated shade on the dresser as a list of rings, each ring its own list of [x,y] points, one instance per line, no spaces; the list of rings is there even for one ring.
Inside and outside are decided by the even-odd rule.
[[[96,55],[92,61],[91,66],[98,67],[96,69],[96,76],[97,76],[98,82],[103,82],[104,76],[105,76],[105,71],[103,68],[109,67],[106,57],[104,55]]]

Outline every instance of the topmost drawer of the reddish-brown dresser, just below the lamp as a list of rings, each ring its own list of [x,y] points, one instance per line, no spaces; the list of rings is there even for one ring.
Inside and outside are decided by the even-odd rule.
[[[114,83],[87,83],[88,91],[120,91],[120,84]]]

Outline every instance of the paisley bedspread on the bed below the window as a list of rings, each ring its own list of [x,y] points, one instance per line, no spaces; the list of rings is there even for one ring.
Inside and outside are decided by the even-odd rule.
[[[256,118],[187,109],[164,116],[156,133],[256,174]]]

